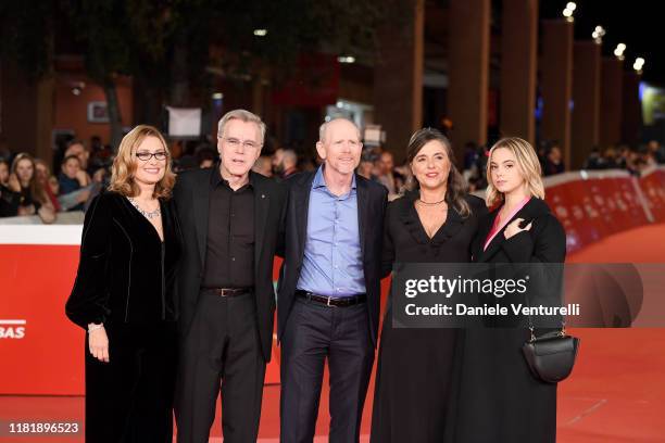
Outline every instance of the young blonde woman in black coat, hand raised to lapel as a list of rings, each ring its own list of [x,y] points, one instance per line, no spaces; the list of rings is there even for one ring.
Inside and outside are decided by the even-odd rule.
[[[480,220],[474,262],[563,263],[565,231],[543,201],[534,148],[518,138],[499,140],[487,177],[486,201],[497,207]],[[556,384],[530,374],[522,354],[528,338],[526,328],[466,330],[448,442],[555,442]]]

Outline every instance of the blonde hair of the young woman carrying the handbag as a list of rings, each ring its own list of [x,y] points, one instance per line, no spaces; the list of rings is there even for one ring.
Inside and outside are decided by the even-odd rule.
[[[507,149],[515,155],[519,170],[524,177],[524,181],[527,186],[527,191],[539,199],[544,199],[544,186],[542,185],[542,169],[540,162],[536,155],[536,150],[526,140],[518,137],[502,138],[489,151],[489,159],[487,161],[487,190],[485,201],[488,207],[494,206],[497,203],[503,202],[504,195],[499,192],[492,183],[491,176],[491,162],[492,154],[498,149]]]

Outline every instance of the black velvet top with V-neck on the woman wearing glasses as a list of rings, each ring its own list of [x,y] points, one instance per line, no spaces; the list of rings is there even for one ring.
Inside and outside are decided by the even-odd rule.
[[[86,328],[177,318],[174,281],[181,235],[173,201],[160,201],[164,242],[129,201],[104,192],[86,212],[67,317]]]

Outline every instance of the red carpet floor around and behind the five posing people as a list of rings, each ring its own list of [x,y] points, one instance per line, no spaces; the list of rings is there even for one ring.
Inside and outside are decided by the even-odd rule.
[[[574,263],[665,263],[665,225],[622,232],[568,257]],[[665,442],[665,329],[576,329],[581,338],[577,366],[559,388],[561,443]],[[7,364],[7,362],[3,362]],[[328,430],[328,390],[324,382],[317,435]],[[362,432],[369,432],[372,393],[363,416]],[[266,387],[260,438],[277,442],[279,387]],[[83,421],[81,397],[0,396],[0,421]],[[221,441],[219,408],[211,441]],[[215,439],[216,438],[216,439]],[[319,439],[317,439],[318,441]],[[322,441],[327,441],[323,438]],[[363,439],[364,440],[364,439]],[[0,436],[0,442],[75,442],[64,438]],[[515,442],[538,443],[538,442]]]

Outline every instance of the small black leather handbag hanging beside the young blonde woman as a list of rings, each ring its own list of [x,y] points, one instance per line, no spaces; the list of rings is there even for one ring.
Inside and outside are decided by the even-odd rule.
[[[534,377],[547,383],[557,383],[568,377],[575,366],[579,339],[566,334],[565,325],[561,330],[539,337],[534,334],[532,325],[529,330],[531,338],[524,343],[522,352]]]

